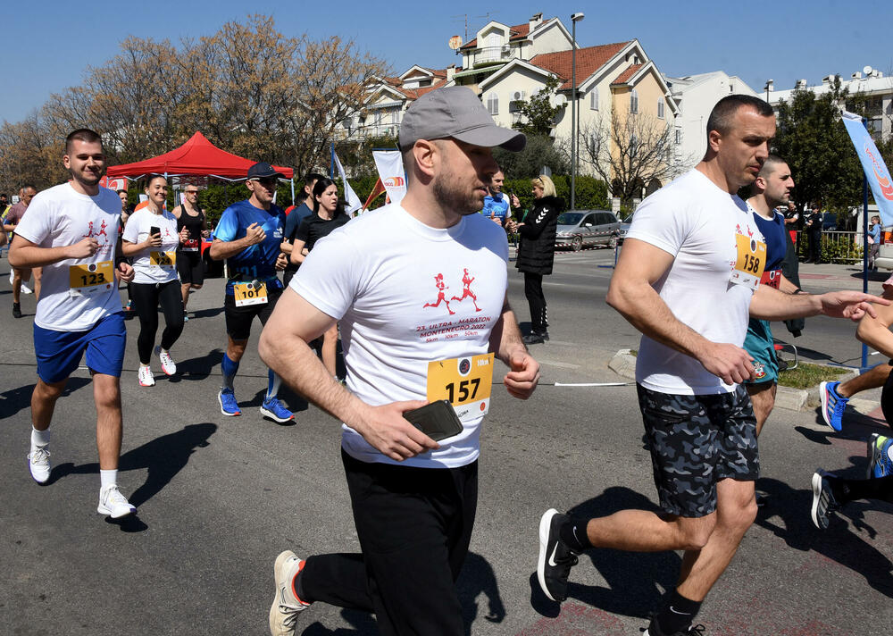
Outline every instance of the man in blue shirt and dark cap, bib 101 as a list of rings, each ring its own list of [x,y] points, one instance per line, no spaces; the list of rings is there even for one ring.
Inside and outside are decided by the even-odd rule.
[[[280,249],[285,213],[273,203],[276,180],[281,176],[269,163],[251,166],[245,184],[251,197],[224,210],[213,233],[211,257],[217,261],[227,259],[229,272],[223,304],[228,342],[221,364],[223,386],[217,395],[224,415],[242,414],[233,392],[233,380],[245,355],[251,323],[257,316],[265,324],[282,295],[276,272],[286,265],[286,256]],[[272,371],[268,373],[261,414],[279,423],[288,422],[294,415],[277,397],[280,378]]]

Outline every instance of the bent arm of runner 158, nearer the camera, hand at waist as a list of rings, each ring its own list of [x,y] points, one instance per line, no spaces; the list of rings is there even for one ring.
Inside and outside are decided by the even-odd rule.
[[[704,368],[737,384],[751,377],[753,359],[741,347],[711,342],[680,322],[652,285],[672,266],[675,257],[637,238],[623,241],[620,261],[605,300],[648,338],[695,358]],[[773,290],[774,291],[774,290]]]

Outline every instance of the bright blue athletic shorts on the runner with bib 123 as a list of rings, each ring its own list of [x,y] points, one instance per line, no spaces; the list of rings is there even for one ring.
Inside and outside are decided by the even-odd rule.
[[[87,331],[53,331],[34,325],[38,376],[47,384],[70,376],[85,350],[90,371],[120,378],[126,345],[123,312],[105,316]]]

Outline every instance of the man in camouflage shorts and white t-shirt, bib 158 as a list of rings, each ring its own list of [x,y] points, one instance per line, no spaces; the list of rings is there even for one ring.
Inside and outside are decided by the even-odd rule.
[[[588,548],[686,550],[649,636],[694,633],[701,602],[756,515],[756,427],[740,385],[754,371],[741,348],[748,313],[857,320],[874,313],[868,301],[887,304],[856,292],[789,295],[759,284],[763,236],[735,193],[755,181],[774,135],[762,99],[722,98],[707,121],[704,159],[638,207],[608,289],[608,304],[643,333],[638,400],[663,514],[579,519],[550,509],[539,523],[538,580],[557,601]]]

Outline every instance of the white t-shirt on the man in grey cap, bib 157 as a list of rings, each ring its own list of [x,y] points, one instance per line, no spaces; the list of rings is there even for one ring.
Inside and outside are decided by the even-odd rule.
[[[338,319],[347,388],[380,406],[426,399],[429,362],[488,352],[505,301],[507,261],[505,230],[480,214],[438,230],[392,204],[321,238],[290,287]],[[438,450],[399,464],[471,464],[480,454],[482,420],[464,422]],[[398,464],[342,428],[349,455]]]

